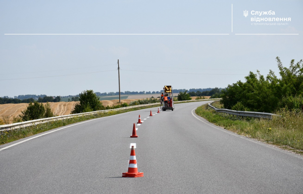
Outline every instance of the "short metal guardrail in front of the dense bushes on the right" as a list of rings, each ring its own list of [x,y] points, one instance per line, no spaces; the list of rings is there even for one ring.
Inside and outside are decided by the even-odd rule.
[[[214,101],[214,102],[216,102],[216,101]],[[214,102],[211,102],[208,105],[209,105],[209,107],[214,109],[217,113],[226,113],[226,114],[242,116],[242,117],[257,117],[257,118],[265,118],[265,119],[272,119],[273,116],[281,117],[281,115],[276,115],[276,114],[272,114],[272,113],[260,113],[260,112],[249,112],[249,111],[233,111],[233,110],[229,110],[229,109],[218,109],[218,108],[211,105]]]

